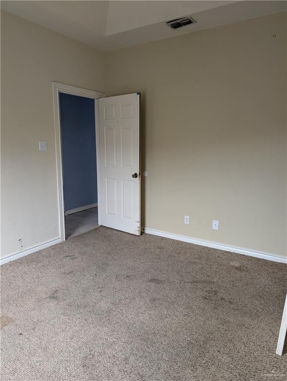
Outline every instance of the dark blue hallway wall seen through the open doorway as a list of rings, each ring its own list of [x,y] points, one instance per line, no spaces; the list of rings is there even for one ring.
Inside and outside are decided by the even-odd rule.
[[[94,100],[60,93],[65,210],[97,202]]]

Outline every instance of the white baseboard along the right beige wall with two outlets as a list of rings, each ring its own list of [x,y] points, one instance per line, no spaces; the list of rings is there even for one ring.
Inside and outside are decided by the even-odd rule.
[[[213,249],[218,249],[218,250],[224,250],[226,252],[231,252],[231,253],[237,253],[237,254],[254,256],[256,258],[272,260],[274,262],[287,263],[287,258],[284,258],[283,256],[279,256],[279,255],[274,255],[274,254],[269,254],[269,253],[263,253],[263,252],[256,252],[254,250],[238,248],[238,247],[235,247],[235,246],[228,246],[228,245],[220,244],[220,243],[217,243],[217,242],[199,240],[197,238],[180,236],[180,235],[177,235],[177,234],[162,232],[160,230],[142,228],[142,231],[144,233],[146,233],[146,234],[152,234],[153,236],[170,238],[172,240],[188,242],[190,244],[195,244],[195,245],[200,245],[200,246],[206,246],[208,248],[213,248]]]

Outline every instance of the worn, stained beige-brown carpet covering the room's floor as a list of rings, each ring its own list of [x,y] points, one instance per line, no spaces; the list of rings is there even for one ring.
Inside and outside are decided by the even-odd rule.
[[[284,264],[100,227],[1,266],[1,380],[286,380],[286,291]]]

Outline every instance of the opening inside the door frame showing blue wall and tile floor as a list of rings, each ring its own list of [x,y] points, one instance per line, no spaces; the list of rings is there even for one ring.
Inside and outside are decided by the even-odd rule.
[[[98,227],[95,102],[59,93],[65,238]]]

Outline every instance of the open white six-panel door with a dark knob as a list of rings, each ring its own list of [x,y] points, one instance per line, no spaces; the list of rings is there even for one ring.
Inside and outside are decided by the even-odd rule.
[[[102,225],[141,234],[140,94],[99,99]]]

